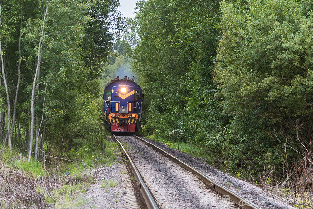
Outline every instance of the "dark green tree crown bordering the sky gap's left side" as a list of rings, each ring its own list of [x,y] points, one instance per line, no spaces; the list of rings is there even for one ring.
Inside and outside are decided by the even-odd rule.
[[[92,1],[88,9],[90,21],[85,27],[82,47],[85,66],[95,68],[88,75],[89,79],[99,78],[103,61],[106,61],[106,56],[123,27],[121,13],[117,10],[119,6],[118,0]]]

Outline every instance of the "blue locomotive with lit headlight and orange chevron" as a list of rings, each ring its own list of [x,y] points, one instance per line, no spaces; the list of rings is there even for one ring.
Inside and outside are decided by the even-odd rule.
[[[144,94],[133,78],[117,76],[105,85],[104,126],[116,135],[131,135],[141,129]]]

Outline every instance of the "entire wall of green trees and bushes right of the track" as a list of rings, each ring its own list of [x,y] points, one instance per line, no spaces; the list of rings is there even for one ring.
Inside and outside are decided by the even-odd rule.
[[[253,182],[309,185],[312,6],[139,1],[126,38],[136,42],[131,64],[145,90],[144,130],[192,145]]]

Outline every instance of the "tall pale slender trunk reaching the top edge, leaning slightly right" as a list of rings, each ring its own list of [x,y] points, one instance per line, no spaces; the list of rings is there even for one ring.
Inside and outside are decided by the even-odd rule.
[[[34,93],[35,93],[35,84],[36,84],[36,79],[37,79],[37,74],[38,74],[38,70],[41,66],[41,60],[42,60],[42,56],[41,56],[41,45],[42,45],[42,39],[44,38],[44,22],[48,13],[48,6],[49,6],[49,1],[46,7],[46,12],[44,14],[44,20],[43,20],[43,24],[42,24],[42,30],[41,30],[41,37],[39,40],[39,44],[38,44],[38,55],[37,55],[37,67],[36,67],[36,71],[35,71],[35,75],[34,75],[34,80],[33,80],[33,88],[32,88],[32,98],[31,98],[31,125],[30,125],[30,134],[29,134],[29,147],[28,147],[28,162],[30,161],[30,157],[31,157],[31,151],[33,149],[33,137],[34,137]]]

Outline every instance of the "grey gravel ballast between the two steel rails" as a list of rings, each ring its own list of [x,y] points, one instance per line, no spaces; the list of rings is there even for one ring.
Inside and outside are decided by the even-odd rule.
[[[127,144],[126,151],[160,208],[234,207],[232,202],[207,189],[195,175],[138,139],[119,136],[118,140]]]

